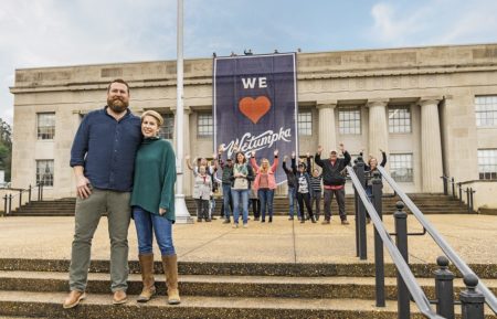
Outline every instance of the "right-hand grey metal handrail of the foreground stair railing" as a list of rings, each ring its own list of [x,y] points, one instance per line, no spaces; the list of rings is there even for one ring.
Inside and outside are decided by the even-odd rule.
[[[412,214],[417,219],[420,224],[426,230],[426,232],[432,236],[438,247],[445,253],[448,259],[456,266],[456,268],[463,274],[464,277],[468,275],[476,276],[476,274],[469,268],[469,266],[457,255],[457,253],[448,245],[448,243],[438,234],[435,227],[426,220],[424,214],[417,209],[417,206],[411,201],[411,199],[400,189],[396,182],[390,177],[384,168],[378,167],[383,179],[392,187],[396,192],[399,198],[404,202],[404,204],[411,210]],[[476,276],[478,278],[478,276]],[[490,307],[494,313],[497,313],[497,298],[496,296],[482,283],[478,278],[477,290],[485,296],[485,302]]]

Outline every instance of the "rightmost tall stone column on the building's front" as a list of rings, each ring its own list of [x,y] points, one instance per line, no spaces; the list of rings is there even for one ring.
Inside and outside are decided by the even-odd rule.
[[[436,97],[422,97],[421,106],[421,171],[422,191],[443,191],[442,139],[440,131],[438,102]]]

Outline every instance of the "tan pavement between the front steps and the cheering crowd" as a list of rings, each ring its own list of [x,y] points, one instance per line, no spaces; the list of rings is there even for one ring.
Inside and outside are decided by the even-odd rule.
[[[470,264],[497,263],[497,216],[429,215],[436,230]],[[173,241],[179,260],[212,263],[357,263],[353,217],[341,225],[300,224],[277,216],[273,223],[250,221],[248,228],[232,228],[221,220],[176,224]],[[384,217],[393,232],[393,217]],[[408,219],[409,231],[422,227]],[[70,259],[74,217],[1,217],[0,258]],[[156,254],[159,255],[157,245]],[[410,262],[433,264],[442,254],[429,236],[409,238]],[[103,216],[93,241],[92,258],[109,259],[107,219]],[[129,259],[138,254],[134,223],[129,227]],[[368,262],[373,262],[373,227],[368,225]],[[385,252],[385,260],[390,257]]]

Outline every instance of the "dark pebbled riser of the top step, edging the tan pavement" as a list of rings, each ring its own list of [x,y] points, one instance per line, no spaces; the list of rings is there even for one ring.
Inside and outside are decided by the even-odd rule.
[[[139,274],[137,260],[129,260],[131,274]],[[54,272],[67,273],[70,260],[64,259],[20,259],[0,258],[0,270],[8,272]],[[416,278],[433,278],[437,269],[434,264],[414,264],[411,270]],[[497,264],[469,264],[480,278],[497,279]],[[210,275],[210,276],[285,276],[285,277],[374,277],[374,265],[370,263],[349,264],[295,264],[295,263],[208,263],[208,262],[179,262],[178,269],[181,275]],[[155,263],[156,273],[162,273],[162,264]],[[456,269],[451,270],[458,277]],[[91,273],[108,273],[108,260],[92,260]],[[385,276],[396,276],[393,264],[385,264]]]

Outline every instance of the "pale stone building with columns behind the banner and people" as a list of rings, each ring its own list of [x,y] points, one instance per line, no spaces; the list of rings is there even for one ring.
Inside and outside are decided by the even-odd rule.
[[[477,205],[497,206],[497,44],[299,53],[297,76],[300,153],[339,141],[352,156],[381,148],[408,192],[442,192],[448,176],[472,183]],[[12,187],[44,180],[45,195],[75,195],[74,134],[117,77],[130,84],[131,110],[160,111],[175,139],[176,61],[17,70]],[[211,157],[211,59],[184,62],[184,152]]]

